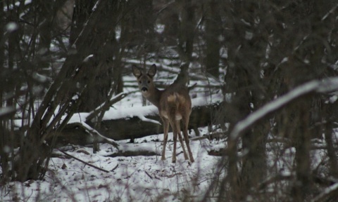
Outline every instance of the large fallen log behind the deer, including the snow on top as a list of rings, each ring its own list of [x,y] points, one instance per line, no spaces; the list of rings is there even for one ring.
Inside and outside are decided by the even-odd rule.
[[[210,125],[215,119],[216,112],[222,107],[223,102],[206,104],[193,100],[192,114],[190,115],[189,130]],[[79,127],[81,121],[84,125],[94,128],[94,119],[86,119],[87,114],[77,114],[77,118],[70,121],[58,135],[58,142],[71,142],[71,144],[92,144],[93,137],[84,128]],[[86,121],[87,120],[87,121]],[[99,126],[99,127],[97,127]],[[131,107],[130,109],[111,109],[106,112],[101,124],[97,124],[95,130],[111,140],[128,140],[148,135],[163,133],[163,126],[158,116],[158,109],[154,106]],[[171,128],[170,128],[171,131]],[[104,142],[104,140],[99,140]]]

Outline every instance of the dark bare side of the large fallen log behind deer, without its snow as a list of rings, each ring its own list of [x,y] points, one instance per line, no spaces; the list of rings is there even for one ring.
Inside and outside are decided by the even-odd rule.
[[[202,126],[208,126],[214,119],[215,112],[220,108],[220,103],[213,103],[212,105],[193,107],[190,115],[189,129],[196,129]],[[146,119],[139,116],[126,117],[121,119],[106,119],[101,121],[101,125],[96,130],[105,137],[112,140],[128,140],[148,135],[156,135],[163,133],[163,127],[160,117],[156,113],[151,113],[145,116]],[[154,120],[154,121],[149,121]],[[155,121],[158,121],[156,123]],[[89,126],[94,126],[94,123],[88,123]],[[171,128],[170,128],[171,131]],[[65,144],[92,144],[92,137],[87,130],[79,127],[78,123],[69,123],[63,129],[62,133],[58,135],[58,139]],[[58,141],[59,142],[59,141]],[[104,142],[104,140],[99,140]]]

